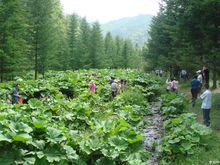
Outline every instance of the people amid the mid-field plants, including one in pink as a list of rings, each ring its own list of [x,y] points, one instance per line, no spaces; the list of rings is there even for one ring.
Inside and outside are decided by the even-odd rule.
[[[112,98],[116,97],[118,93],[123,92],[126,84],[127,81],[124,79],[116,80],[115,77],[111,77],[111,80],[109,81],[109,85],[111,87]],[[91,93],[96,92],[96,85],[93,80],[89,81],[89,90]]]

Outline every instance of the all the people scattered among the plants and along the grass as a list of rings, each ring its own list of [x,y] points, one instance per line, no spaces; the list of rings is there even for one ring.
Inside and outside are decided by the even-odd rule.
[[[160,70],[157,71],[157,75],[161,76],[162,72]],[[186,76],[186,72],[181,73],[182,78]],[[111,96],[112,98],[116,97],[118,93],[123,92],[126,87],[126,80],[120,79],[116,80],[115,77],[111,77],[109,81],[109,85],[111,88]],[[166,90],[171,92],[178,92],[178,80],[176,78],[171,78],[170,80],[166,80]],[[211,110],[211,91],[209,89],[209,70],[206,67],[203,67],[202,70],[198,70],[196,74],[193,76],[191,81],[191,95],[192,95],[192,107],[195,106],[196,99],[198,98],[198,94],[201,92],[202,88],[205,88],[205,91],[200,95],[202,99],[202,111],[204,123],[207,126],[210,126],[210,110]],[[96,92],[96,85],[93,80],[89,81],[89,90],[91,93]],[[19,94],[20,85],[16,84],[12,96],[6,95],[6,103],[7,104],[22,104],[22,96]],[[12,97],[12,98],[11,98]]]

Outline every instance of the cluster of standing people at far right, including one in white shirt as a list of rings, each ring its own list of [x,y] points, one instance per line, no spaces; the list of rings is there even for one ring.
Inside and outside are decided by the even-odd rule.
[[[201,93],[203,87],[205,91],[200,95],[200,99],[202,100],[201,109],[203,111],[204,124],[210,126],[212,94],[209,89],[209,70],[206,67],[203,67],[202,70],[198,70],[191,81],[192,107],[195,106],[198,94]]]

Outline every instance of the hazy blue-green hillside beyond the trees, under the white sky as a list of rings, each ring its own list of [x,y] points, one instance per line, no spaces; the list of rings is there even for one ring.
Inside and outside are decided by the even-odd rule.
[[[152,20],[152,15],[139,15],[111,21],[102,25],[103,33],[111,32],[113,36],[128,38],[143,45],[148,38],[148,29]]]

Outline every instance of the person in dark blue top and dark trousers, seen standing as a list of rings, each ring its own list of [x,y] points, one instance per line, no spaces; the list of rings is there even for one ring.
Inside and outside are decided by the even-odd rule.
[[[194,76],[191,81],[191,95],[192,95],[192,106],[195,106],[196,99],[198,96],[199,88],[200,88],[200,82],[197,79],[197,76]]]

